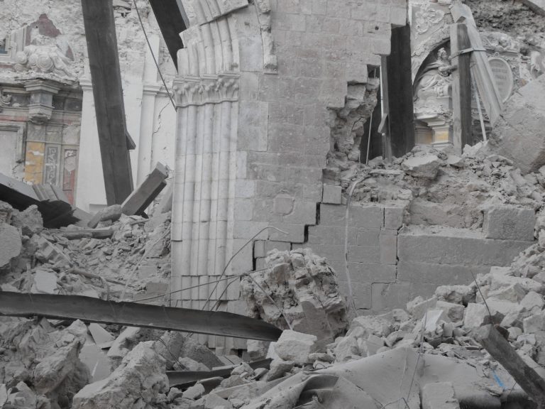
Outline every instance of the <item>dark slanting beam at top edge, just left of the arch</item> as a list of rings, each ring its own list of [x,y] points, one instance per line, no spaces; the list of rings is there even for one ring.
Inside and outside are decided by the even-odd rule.
[[[170,53],[172,62],[177,69],[177,53],[180,48],[184,48],[180,33],[186,29],[180,6],[178,6],[177,0],[150,0],[150,4],[167,44],[168,53]]]

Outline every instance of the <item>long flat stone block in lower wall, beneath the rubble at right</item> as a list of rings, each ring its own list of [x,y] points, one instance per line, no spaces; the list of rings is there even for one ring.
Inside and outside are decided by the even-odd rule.
[[[528,241],[485,239],[479,231],[411,227],[397,237],[400,261],[458,264],[466,266],[508,266],[514,256],[529,246]]]

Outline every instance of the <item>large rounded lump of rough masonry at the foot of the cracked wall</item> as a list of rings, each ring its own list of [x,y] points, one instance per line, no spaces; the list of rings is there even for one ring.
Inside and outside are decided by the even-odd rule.
[[[310,249],[273,250],[264,271],[241,281],[249,315],[298,332],[333,339],[348,325],[334,271]]]

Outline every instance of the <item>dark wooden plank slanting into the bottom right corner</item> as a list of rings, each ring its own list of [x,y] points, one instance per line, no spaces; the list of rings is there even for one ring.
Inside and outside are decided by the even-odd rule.
[[[539,408],[545,405],[545,380],[530,368],[493,325],[480,327],[477,340],[510,373]]]

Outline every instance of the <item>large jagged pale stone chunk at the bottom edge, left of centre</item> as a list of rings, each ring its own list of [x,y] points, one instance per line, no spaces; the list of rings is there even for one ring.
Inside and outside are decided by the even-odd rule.
[[[76,393],[72,408],[155,407],[160,394],[167,391],[165,361],[154,351],[153,342],[141,342],[108,378],[90,383]]]

